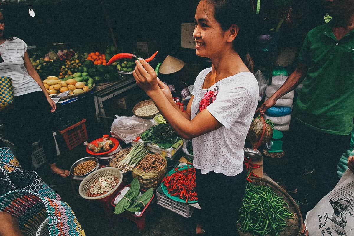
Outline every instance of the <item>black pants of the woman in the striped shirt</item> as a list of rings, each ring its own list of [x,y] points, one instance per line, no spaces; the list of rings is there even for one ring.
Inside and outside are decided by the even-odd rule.
[[[56,162],[50,105],[42,91],[16,96],[0,111],[4,136],[13,142],[16,158],[24,169],[33,169],[32,143],[40,140],[49,163]]]

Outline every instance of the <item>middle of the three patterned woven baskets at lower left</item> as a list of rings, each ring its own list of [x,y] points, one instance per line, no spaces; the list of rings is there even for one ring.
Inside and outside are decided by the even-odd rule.
[[[35,171],[23,171],[22,169],[7,164],[15,171],[8,172],[2,166],[5,166],[5,162],[0,161],[0,170],[4,173],[8,184],[13,190],[28,190],[38,193],[42,197],[48,197],[56,200],[61,200],[59,194],[57,194],[52,188],[50,188]]]

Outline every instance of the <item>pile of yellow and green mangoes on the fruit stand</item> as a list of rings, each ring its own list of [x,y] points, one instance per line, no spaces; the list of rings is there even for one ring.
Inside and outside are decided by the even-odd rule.
[[[87,73],[77,72],[73,76],[66,77],[65,80],[60,80],[57,76],[48,76],[43,80],[43,84],[49,94],[70,91],[68,95],[78,95],[93,87],[93,79],[87,76]]]

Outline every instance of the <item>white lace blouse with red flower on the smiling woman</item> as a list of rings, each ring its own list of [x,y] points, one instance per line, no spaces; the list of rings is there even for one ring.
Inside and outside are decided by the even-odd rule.
[[[226,77],[207,90],[202,89],[211,68],[202,70],[194,83],[194,99],[190,111],[196,116],[199,104],[207,91],[218,88],[215,100],[206,109],[223,126],[193,138],[194,167],[202,174],[210,171],[234,176],[243,171],[246,135],[258,103],[258,83],[250,72]]]

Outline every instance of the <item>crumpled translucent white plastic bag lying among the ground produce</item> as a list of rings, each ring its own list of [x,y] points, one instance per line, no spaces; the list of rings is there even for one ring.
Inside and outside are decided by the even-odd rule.
[[[136,116],[116,116],[111,126],[111,133],[125,143],[131,143],[142,132],[148,130],[155,121]]]

